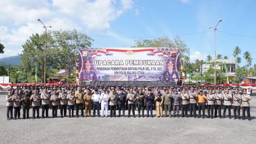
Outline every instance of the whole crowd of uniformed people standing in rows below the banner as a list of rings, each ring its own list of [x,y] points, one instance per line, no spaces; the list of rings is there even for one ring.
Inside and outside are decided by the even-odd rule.
[[[205,117],[205,109],[208,110],[208,118],[216,118],[217,112],[219,118],[228,117],[231,119],[231,108],[233,109],[234,119],[240,119],[240,108],[242,108],[242,118],[245,119],[245,111],[248,120],[250,116],[251,96],[247,94],[246,89],[239,90],[238,87],[215,87],[215,86],[20,86],[16,89],[9,89],[6,96],[7,101],[7,119],[20,119],[20,109],[23,109],[23,119],[29,118],[29,109],[32,108],[32,118],[40,118],[39,108],[42,107],[41,118],[49,118],[48,110],[52,109],[52,118],[57,117],[57,111],[60,109],[60,117],[110,117],[125,116],[125,110],[128,110],[128,116],[132,111],[135,118],[135,110],[138,111],[138,117],[153,117],[153,109],[156,110],[156,117],[180,117],[180,108],[182,117],[196,118],[196,109],[198,109],[198,118]],[[14,108],[14,117],[13,117]],[[91,109],[93,113],[91,115]],[[101,114],[100,114],[101,109]],[[164,114],[163,114],[164,109]],[[223,109],[223,115],[222,115]],[[74,110],[76,114],[74,116]],[[85,116],[84,116],[85,110]],[[118,114],[116,114],[118,110]],[[214,113],[213,113],[213,110]],[[37,117],[35,117],[35,111]],[[189,111],[189,115],[188,115]],[[201,115],[202,111],[202,115]],[[149,114],[150,112],[150,114]],[[142,114],[142,115],[141,115]]]

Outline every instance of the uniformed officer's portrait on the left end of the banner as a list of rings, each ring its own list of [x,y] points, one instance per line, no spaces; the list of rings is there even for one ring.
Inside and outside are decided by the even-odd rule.
[[[97,75],[93,69],[91,69],[91,61],[86,60],[84,63],[85,70],[82,71],[83,81],[98,81]]]

